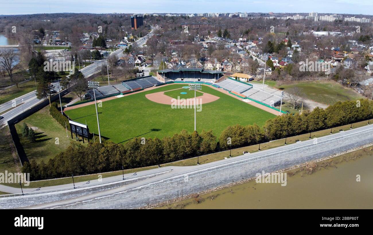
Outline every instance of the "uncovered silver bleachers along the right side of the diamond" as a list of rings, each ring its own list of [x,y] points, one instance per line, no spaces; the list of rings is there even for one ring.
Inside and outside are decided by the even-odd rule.
[[[256,88],[253,88],[251,84],[245,84],[232,78],[220,81],[219,83],[216,83],[216,85],[223,88],[224,90],[242,94],[246,97],[249,97],[250,99],[257,100],[272,107],[278,106],[281,102],[281,97],[279,96],[275,96],[271,93],[258,90]]]

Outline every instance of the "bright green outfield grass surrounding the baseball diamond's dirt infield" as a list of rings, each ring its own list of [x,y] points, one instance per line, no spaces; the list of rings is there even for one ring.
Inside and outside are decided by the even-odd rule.
[[[134,137],[172,136],[183,129],[192,132],[194,130],[193,109],[172,109],[170,105],[152,102],[145,97],[145,94],[169,91],[183,86],[186,84],[161,86],[154,90],[103,102],[102,107],[98,107],[101,136],[110,138],[116,143],[123,143]],[[219,136],[229,125],[257,123],[263,126],[267,119],[275,117],[271,113],[209,86],[203,86],[202,90],[220,99],[203,104],[201,112],[197,112],[198,132],[202,129],[212,129],[214,135]],[[68,110],[65,113],[76,122],[87,122],[90,131],[98,133],[94,105]]]

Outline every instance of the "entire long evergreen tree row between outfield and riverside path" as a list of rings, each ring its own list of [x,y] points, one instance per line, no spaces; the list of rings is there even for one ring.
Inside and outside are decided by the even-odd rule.
[[[31,173],[32,180],[41,180],[71,174],[115,171],[122,169],[122,166],[135,168],[163,164],[367,120],[372,118],[372,113],[373,102],[360,99],[338,102],[325,110],[316,108],[301,115],[277,116],[267,120],[263,128],[256,124],[228,126],[220,134],[219,142],[211,130],[191,134],[183,130],[163,139],[134,138],[123,145],[111,141],[103,141],[102,144],[95,141],[85,147],[72,142],[65,151],[48,162],[26,162],[22,172]],[[65,127],[64,123],[63,126]]]

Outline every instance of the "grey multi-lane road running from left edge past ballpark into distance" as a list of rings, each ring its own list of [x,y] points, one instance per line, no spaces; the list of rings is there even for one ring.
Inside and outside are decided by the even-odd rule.
[[[144,45],[147,42],[148,38],[150,38],[151,36],[154,35],[154,33],[153,33],[154,29],[155,28],[153,28],[152,31],[150,33],[148,33],[147,35],[145,35],[144,37],[138,39],[136,42],[134,42],[134,44],[136,44],[137,46]],[[112,52],[112,54],[117,55],[117,57],[121,57],[122,53],[123,53],[122,49],[118,49],[118,50]],[[88,65],[87,67],[82,68],[80,71],[84,74],[85,77],[89,77],[89,76],[91,76],[95,73],[98,73],[101,66],[104,63],[106,63],[106,59],[101,59],[101,60],[98,60],[98,61],[94,62],[91,65]],[[53,86],[55,87],[54,90],[58,90],[56,88],[57,83],[54,83]],[[15,116],[21,114],[23,111],[25,111],[27,109],[30,109],[31,107],[35,106],[39,102],[42,102],[42,100],[37,99],[36,91],[32,91],[32,92],[30,92],[28,94],[25,94],[23,96],[20,96],[16,99],[10,100],[9,102],[6,102],[4,104],[0,104],[0,113],[2,113],[4,111],[12,108],[14,105],[18,105],[18,104],[22,103],[21,106],[15,107],[14,109],[9,110],[9,112],[3,113],[1,116],[3,116],[4,118],[1,121],[4,121],[6,123],[8,120],[10,120],[10,119],[14,118]]]

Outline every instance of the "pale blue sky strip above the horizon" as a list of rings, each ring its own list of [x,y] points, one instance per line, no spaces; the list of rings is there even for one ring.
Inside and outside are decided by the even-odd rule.
[[[319,12],[373,15],[373,0],[1,0],[0,6],[0,15],[50,12]]]

